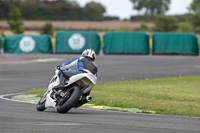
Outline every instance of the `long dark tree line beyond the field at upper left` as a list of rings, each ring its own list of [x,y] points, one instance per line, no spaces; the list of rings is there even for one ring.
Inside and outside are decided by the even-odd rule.
[[[9,19],[9,13],[19,8],[24,20],[119,20],[116,16],[104,16],[106,9],[96,2],[84,7],[69,0],[0,0],[0,19]]]

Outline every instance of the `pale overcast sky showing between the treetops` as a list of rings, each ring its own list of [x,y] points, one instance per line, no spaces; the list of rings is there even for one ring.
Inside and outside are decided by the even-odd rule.
[[[132,15],[137,15],[138,12],[133,10],[133,4],[130,0],[72,0],[77,1],[80,6],[85,6],[86,3],[95,1],[101,3],[106,8],[106,14],[110,16],[118,16],[121,19],[130,18]],[[168,15],[178,15],[188,12],[188,6],[193,0],[171,0]]]

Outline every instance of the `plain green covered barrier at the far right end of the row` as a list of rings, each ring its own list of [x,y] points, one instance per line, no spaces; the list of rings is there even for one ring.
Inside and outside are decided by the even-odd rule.
[[[198,39],[191,33],[154,33],[153,54],[199,55]]]

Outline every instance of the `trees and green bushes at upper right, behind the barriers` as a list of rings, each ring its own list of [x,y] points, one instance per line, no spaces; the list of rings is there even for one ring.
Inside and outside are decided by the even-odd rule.
[[[166,16],[171,0],[130,0],[133,9],[143,12],[143,15],[132,16],[131,21],[144,20],[154,22],[151,30],[161,32],[195,32],[200,33],[200,0],[193,0],[188,5],[188,13],[183,15]],[[145,28],[146,27],[146,28]],[[145,23],[140,29],[147,30]]]

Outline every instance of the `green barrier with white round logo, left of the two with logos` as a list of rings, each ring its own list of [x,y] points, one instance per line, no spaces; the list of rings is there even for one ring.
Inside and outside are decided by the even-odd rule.
[[[36,54],[52,53],[49,35],[15,35],[5,38],[5,53]]]

